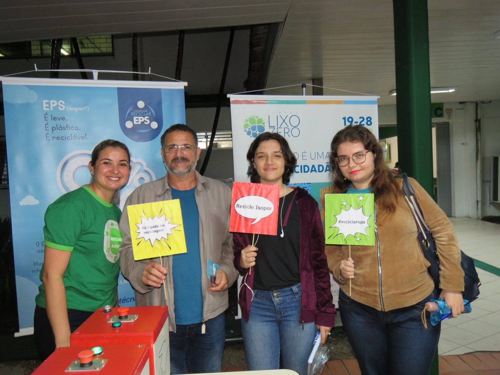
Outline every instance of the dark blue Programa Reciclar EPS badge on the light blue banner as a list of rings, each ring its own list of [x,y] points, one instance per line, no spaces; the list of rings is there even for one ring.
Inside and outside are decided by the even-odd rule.
[[[161,90],[157,88],[118,87],[120,128],[128,138],[147,142],[163,127]]]

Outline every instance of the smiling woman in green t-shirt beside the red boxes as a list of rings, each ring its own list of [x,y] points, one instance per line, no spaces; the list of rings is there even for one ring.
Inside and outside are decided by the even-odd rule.
[[[127,146],[103,140],[92,150],[88,169],[88,185],[63,194],[45,211],[42,284],[34,312],[42,359],[69,346],[71,332],[97,308],[117,303],[121,211],[111,201],[128,180]]]

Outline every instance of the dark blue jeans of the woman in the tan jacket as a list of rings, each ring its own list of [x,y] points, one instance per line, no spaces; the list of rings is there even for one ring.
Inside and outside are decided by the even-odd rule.
[[[437,298],[435,290],[412,306],[378,311],[340,290],[340,318],[362,374],[429,373],[441,325],[432,326],[426,312],[428,329],[425,329],[420,314],[425,302],[432,298]]]

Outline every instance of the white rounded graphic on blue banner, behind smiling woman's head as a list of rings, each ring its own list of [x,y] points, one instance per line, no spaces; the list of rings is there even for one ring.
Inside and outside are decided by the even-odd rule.
[[[57,186],[62,193],[77,189],[79,186],[90,182],[88,162],[91,151],[77,150],[66,154],[57,166]],[[120,208],[123,208],[128,195],[135,188],[145,182],[154,181],[156,176],[142,159],[130,158],[130,176],[128,182],[120,190]]]

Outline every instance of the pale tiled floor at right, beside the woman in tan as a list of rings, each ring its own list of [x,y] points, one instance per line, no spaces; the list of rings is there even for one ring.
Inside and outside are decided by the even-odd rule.
[[[463,252],[500,268],[500,225],[464,217],[451,222]],[[479,298],[471,303],[470,313],[442,322],[440,355],[500,351],[500,276],[480,268],[477,273]]]

